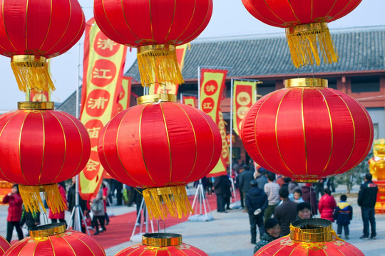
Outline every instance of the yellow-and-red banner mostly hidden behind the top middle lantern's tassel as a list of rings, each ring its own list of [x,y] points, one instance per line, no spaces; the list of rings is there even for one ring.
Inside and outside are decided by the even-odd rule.
[[[186,51],[190,48],[190,43],[186,43],[182,46],[177,46],[175,49],[177,60],[180,68],[180,72],[183,70],[183,65],[185,63],[185,55]],[[172,82],[168,82],[165,85],[159,85],[158,83],[155,83],[154,85],[150,86],[150,89],[148,90],[148,94],[159,94],[159,93],[167,93],[167,94],[178,94],[179,85],[174,85]]]

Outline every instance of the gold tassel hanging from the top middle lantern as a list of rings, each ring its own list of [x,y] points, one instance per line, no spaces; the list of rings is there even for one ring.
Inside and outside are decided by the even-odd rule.
[[[138,67],[143,86],[155,82],[184,82],[173,45],[150,45],[138,48]]]

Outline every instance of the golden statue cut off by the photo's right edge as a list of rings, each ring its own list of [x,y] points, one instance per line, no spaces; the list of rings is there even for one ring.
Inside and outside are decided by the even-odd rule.
[[[385,180],[385,139],[376,139],[373,155],[369,160],[369,170],[374,180]]]

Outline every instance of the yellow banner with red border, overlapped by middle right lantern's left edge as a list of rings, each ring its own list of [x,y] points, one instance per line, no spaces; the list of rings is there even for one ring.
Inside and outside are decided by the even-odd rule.
[[[232,98],[233,127],[234,132],[239,136],[243,119],[246,112],[255,103],[257,82],[253,81],[234,81],[234,97]]]

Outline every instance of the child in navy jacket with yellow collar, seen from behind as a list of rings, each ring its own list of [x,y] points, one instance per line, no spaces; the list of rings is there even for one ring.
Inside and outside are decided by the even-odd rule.
[[[342,227],[344,227],[345,239],[349,239],[349,224],[353,217],[353,208],[347,203],[347,196],[341,195],[340,201],[334,210],[334,220],[337,220],[337,235],[342,235]]]

